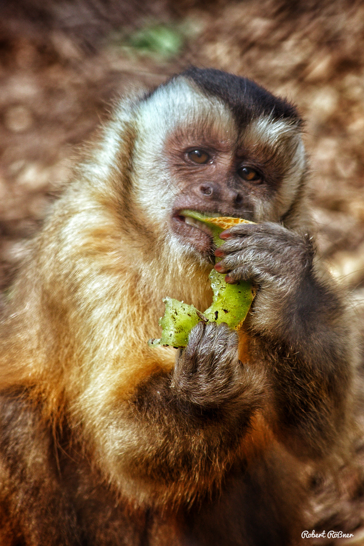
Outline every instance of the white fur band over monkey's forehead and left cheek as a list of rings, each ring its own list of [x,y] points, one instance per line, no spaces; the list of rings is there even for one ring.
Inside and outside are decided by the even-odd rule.
[[[164,147],[168,135],[175,132],[177,127],[191,126],[194,134],[196,128],[199,128],[201,135],[204,129],[213,127],[222,139],[227,139],[234,138],[236,126],[222,100],[217,97],[207,98],[193,82],[184,78],[159,88],[142,102],[136,124],[138,138],[134,176],[139,181],[136,200],[148,217],[160,225],[160,222],[168,219],[171,201],[180,191],[176,181],[170,178],[165,160]],[[190,145],[197,144],[191,136]],[[140,181],[144,181],[141,188]]]

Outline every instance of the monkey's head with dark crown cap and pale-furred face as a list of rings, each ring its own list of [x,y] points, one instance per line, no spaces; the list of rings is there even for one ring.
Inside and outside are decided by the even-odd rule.
[[[297,197],[306,162],[293,106],[249,80],[226,74],[217,81],[211,70],[211,81],[209,71],[201,81],[194,70],[140,104],[137,200],[166,238],[211,257],[208,229],[181,211],[279,222]]]

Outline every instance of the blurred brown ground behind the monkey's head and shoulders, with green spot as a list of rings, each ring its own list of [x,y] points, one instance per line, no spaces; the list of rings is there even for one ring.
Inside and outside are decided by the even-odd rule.
[[[306,124],[313,213],[364,301],[364,4],[345,0],[2,0],[0,285],[112,100],[189,63],[255,79]]]

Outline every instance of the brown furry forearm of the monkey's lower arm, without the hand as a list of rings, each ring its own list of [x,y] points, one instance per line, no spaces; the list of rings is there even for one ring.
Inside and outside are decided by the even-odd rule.
[[[226,363],[216,366],[210,382],[183,356],[172,373],[141,383],[130,405],[138,426],[153,431],[144,450],[145,468],[170,480],[181,478],[187,463],[191,476],[197,468],[200,478],[213,468],[223,471],[261,407],[264,389],[262,376],[238,361],[240,371],[230,383],[224,381]]]

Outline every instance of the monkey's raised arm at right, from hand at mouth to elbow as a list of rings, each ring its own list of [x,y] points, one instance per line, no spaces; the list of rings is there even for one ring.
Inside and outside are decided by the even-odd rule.
[[[258,286],[247,328],[251,358],[266,361],[276,431],[302,453],[337,440],[350,389],[350,329],[337,291],[315,270],[307,236],[279,224],[242,225],[225,232],[216,269],[228,281]],[[297,444],[298,442],[298,444]]]

